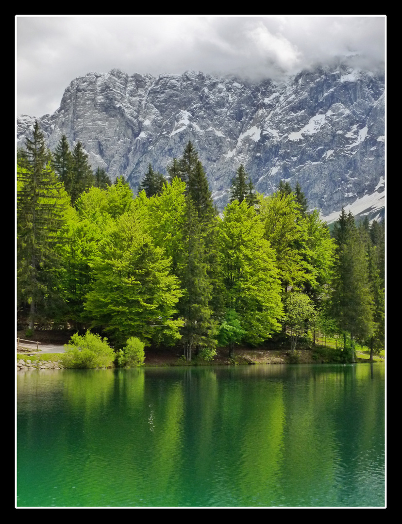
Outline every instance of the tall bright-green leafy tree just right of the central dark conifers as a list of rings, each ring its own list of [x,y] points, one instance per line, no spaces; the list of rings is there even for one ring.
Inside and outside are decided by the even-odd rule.
[[[235,310],[244,340],[260,344],[280,329],[283,314],[275,253],[254,208],[235,200],[220,223],[220,257],[227,309]]]

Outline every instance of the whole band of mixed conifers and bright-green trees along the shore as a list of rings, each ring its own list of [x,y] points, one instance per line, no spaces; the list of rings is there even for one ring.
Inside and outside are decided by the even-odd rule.
[[[36,122],[17,152],[17,322],[177,346],[190,362],[311,326],[382,351],[385,222],[342,209],[330,232],[302,188],[258,194],[243,165],[215,209],[189,143],[167,178],[151,165],[135,195],[93,171],[80,142],[55,151]],[[292,351],[297,337],[292,337]]]

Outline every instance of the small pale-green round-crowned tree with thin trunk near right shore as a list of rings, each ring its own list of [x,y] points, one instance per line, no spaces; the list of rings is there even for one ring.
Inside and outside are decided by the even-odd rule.
[[[309,324],[314,323],[317,312],[312,300],[304,293],[288,293],[285,302],[285,323],[291,330],[290,340],[292,352],[295,351],[297,341],[308,329]]]

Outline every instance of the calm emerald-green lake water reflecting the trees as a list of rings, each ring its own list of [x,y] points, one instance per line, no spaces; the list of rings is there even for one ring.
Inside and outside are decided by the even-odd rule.
[[[17,375],[18,507],[383,507],[384,365]]]

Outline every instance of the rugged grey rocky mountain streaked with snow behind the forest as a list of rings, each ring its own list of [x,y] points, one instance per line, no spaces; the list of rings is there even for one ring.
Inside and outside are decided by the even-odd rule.
[[[64,91],[59,109],[38,118],[47,146],[81,141],[92,168],[124,175],[134,191],[150,162],[166,174],[192,141],[218,209],[243,163],[257,191],[298,181],[328,222],[342,206],[384,214],[384,75],[345,65],[301,71],[287,81],[250,82],[201,72],[131,76],[88,73]],[[35,118],[17,119],[23,146]]]

